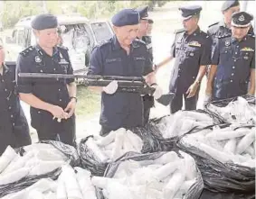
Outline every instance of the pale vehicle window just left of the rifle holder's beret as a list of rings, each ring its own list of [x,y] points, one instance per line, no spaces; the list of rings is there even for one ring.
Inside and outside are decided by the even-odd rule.
[[[96,41],[99,43],[109,40],[113,36],[108,23],[91,23],[90,25]]]

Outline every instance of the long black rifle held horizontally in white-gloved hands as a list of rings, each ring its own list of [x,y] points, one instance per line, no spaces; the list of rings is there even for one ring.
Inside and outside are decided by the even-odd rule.
[[[52,79],[80,79],[84,86],[108,86],[113,80],[119,84],[118,91],[126,93],[139,93],[140,95],[153,95],[154,87],[147,86],[143,77],[119,77],[119,76],[87,76],[87,75],[67,75],[67,74],[45,74],[45,73],[19,73],[22,78],[52,78]],[[159,104],[168,105],[175,94],[168,93],[156,99]]]

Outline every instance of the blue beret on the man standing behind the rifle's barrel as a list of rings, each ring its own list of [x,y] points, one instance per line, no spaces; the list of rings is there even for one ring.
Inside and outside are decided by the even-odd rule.
[[[38,31],[50,28],[57,28],[57,17],[52,14],[36,15],[31,23],[31,26],[33,29]]]

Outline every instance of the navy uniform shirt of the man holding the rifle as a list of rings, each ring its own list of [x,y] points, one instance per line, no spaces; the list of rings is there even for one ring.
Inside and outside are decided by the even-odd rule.
[[[141,77],[152,72],[146,44],[133,41],[127,54],[116,36],[96,47],[91,54],[89,75]],[[101,94],[100,124],[111,130],[143,125],[143,102],[137,93]]]

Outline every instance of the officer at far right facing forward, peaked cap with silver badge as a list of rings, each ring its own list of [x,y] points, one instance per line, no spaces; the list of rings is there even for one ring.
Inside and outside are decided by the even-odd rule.
[[[213,65],[206,88],[206,94],[213,93],[213,100],[254,95],[255,38],[248,34],[252,19],[245,12],[232,14],[232,36],[220,38],[213,48]]]

